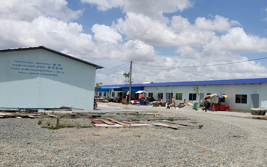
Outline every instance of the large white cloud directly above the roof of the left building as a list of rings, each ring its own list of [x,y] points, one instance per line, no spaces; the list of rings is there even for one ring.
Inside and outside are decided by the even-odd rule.
[[[90,34],[82,25],[63,22],[54,17],[38,17],[32,22],[0,19],[0,45],[3,48],[46,46],[83,57],[97,53]],[[8,26],[8,27],[7,27]],[[9,46],[9,43],[13,43]]]

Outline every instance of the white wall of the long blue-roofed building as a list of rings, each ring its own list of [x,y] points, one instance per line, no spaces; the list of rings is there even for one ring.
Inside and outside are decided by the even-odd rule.
[[[171,93],[175,96],[175,93],[182,93],[182,100],[175,100],[175,103],[183,103],[186,99],[187,103],[193,103],[189,99],[189,93],[193,92],[194,86],[171,86]],[[225,103],[223,105],[229,106],[230,110],[233,111],[250,111],[252,106],[251,94],[259,94],[259,106],[267,108],[267,84],[239,84],[239,85],[200,85],[199,93],[204,93],[206,96],[207,93],[221,93],[228,95],[225,98]],[[144,87],[144,91],[147,93],[153,93],[154,99],[157,97],[157,90],[155,87]],[[163,100],[166,99],[165,93],[170,92],[169,86],[158,86],[158,93],[163,93]],[[243,94],[247,95],[247,104],[235,103],[235,95]]]

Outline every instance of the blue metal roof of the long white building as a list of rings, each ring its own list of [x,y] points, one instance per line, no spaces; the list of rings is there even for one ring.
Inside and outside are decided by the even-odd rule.
[[[267,78],[253,78],[253,79],[235,79],[235,80],[171,82],[171,86],[188,86],[196,84],[198,85],[261,84],[265,82],[267,82]],[[138,87],[138,86],[170,86],[170,82],[132,84],[132,87]],[[126,86],[125,84],[121,84],[121,85],[103,85],[101,87],[126,87]]]

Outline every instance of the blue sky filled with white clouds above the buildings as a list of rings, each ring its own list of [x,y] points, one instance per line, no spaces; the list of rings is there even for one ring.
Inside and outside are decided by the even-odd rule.
[[[266,0],[0,3],[1,49],[45,46],[89,61],[104,67],[104,85],[123,84],[130,61],[133,83],[267,77]]]

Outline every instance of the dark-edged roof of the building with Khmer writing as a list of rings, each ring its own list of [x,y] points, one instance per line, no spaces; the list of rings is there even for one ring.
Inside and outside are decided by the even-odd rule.
[[[76,57],[69,56],[69,55],[67,55],[67,54],[64,54],[64,53],[55,51],[55,50],[53,50],[53,49],[46,48],[46,47],[44,47],[44,46],[25,47],[25,48],[12,48],[12,49],[0,49],[0,52],[26,51],[26,50],[34,50],[34,49],[44,49],[44,50],[47,50],[47,51],[50,51],[50,52],[59,54],[59,55],[61,55],[61,56],[67,57],[67,58],[69,58],[69,59],[73,59],[73,60],[76,60],[76,61],[80,61],[80,62],[82,62],[82,63],[85,63],[85,64],[88,64],[88,65],[90,65],[90,66],[96,67],[96,69],[104,68],[104,67],[98,66],[98,65],[96,65],[96,64],[90,63],[90,62],[88,62],[88,61],[84,61],[84,60],[82,60],[82,59],[78,59],[78,58],[76,58]]]

